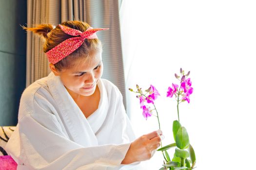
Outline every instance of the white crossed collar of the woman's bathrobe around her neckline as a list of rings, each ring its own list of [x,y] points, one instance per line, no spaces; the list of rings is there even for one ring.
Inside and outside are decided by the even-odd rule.
[[[105,86],[98,81],[100,91],[100,102],[98,109],[88,119],[85,118],[79,106],[70,96],[59,76],[53,72],[48,75],[47,84],[49,90],[59,106],[59,117],[65,130],[74,142],[84,146],[97,146],[98,139],[95,135],[103,124],[108,110],[108,99]]]

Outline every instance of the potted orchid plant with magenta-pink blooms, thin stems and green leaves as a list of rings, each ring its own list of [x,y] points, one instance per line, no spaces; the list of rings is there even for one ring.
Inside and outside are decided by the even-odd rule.
[[[172,84],[172,87],[168,87],[167,97],[173,98],[175,96],[175,100],[177,102],[177,116],[178,120],[173,121],[173,136],[175,143],[169,144],[167,146],[158,149],[157,151],[161,151],[163,154],[163,165],[159,170],[192,170],[195,168],[196,164],[196,155],[193,147],[189,142],[189,136],[185,127],[181,126],[179,119],[179,104],[182,102],[190,103],[190,95],[193,93],[192,82],[188,76],[190,75],[190,71],[185,75],[184,70],[180,68],[180,76],[175,73],[175,77],[179,81],[180,85]],[[158,96],[160,96],[158,90],[155,86],[150,85],[150,87],[143,91],[138,85],[136,85],[137,91],[129,88],[130,91],[137,93],[137,98],[139,99],[140,108],[142,109],[142,115],[145,119],[148,119],[152,115],[157,117],[158,126],[160,128],[160,121],[158,111],[155,105],[155,101]],[[153,112],[156,112],[156,115]],[[175,153],[173,158],[170,158],[167,150],[174,148]]]

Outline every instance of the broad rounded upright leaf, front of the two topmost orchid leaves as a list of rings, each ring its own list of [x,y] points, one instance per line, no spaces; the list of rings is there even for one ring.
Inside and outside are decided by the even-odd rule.
[[[179,149],[187,149],[189,147],[189,137],[185,127],[180,127],[178,129],[176,145]]]

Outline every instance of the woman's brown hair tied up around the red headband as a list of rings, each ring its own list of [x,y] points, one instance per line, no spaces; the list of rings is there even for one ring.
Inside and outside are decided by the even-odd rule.
[[[86,22],[82,21],[65,21],[62,22],[61,25],[79,30],[81,32],[86,31],[90,25]],[[43,46],[43,51],[47,52],[59,45],[61,42],[65,41],[68,38],[72,38],[75,36],[64,33],[59,26],[54,28],[51,24],[39,24],[34,28],[27,28],[22,26],[24,30],[32,31],[35,34],[38,34],[45,39],[45,43]],[[71,68],[77,59],[86,58],[90,51],[102,51],[102,45],[99,39],[85,39],[83,44],[70,55],[66,56],[54,66],[57,70],[68,69]]]

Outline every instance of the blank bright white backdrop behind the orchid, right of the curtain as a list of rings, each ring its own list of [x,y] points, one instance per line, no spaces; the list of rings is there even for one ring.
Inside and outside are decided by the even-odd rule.
[[[194,93],[179,111],[197,170],[249,169],[254,161],[255,7],[253,0],[122,1],[126,89],[152,84],[160,92],[156,106],[163,145],[174,142],[172,122],[177,119],[176,101],[166,98],[167,88],[178,83],[174,73],[179,68],[191,71]],[[127,93],[127,111],[138,136],[158,129],[155,117],[142,117],[135,96]],[[143,164],[158,170],[161,153]]]

